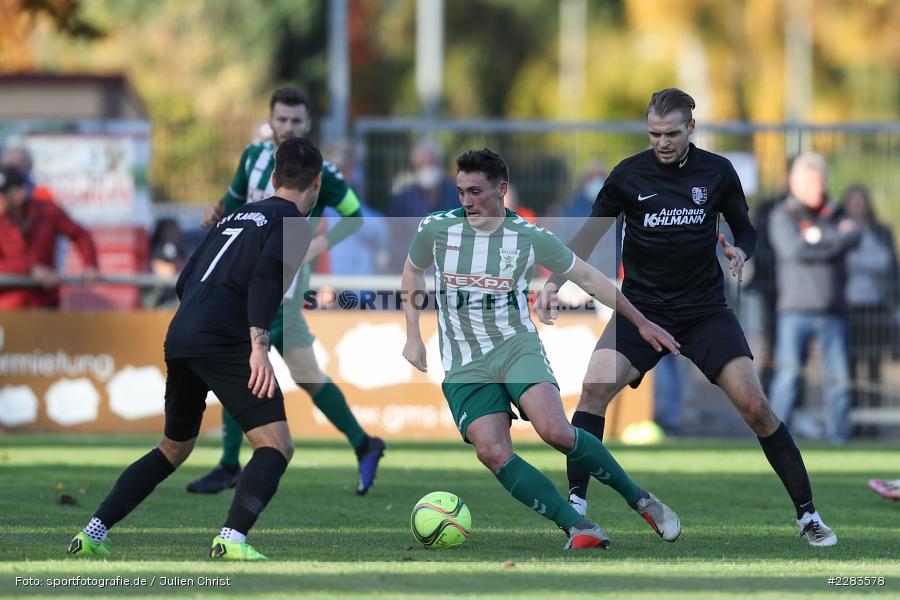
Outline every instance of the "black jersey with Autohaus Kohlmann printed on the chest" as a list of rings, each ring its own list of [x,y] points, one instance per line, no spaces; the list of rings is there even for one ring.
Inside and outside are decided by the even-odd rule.
[[[756,248],[756,232],[734,167],[725,157],[693,144],[673,165],[660,163],[653,150],[619,163],[597,195],[591,216],[614,218],[620,213],[625,216],[622,292],[639,306],[725,304],[716,256],[719,214],[748,258]]]

